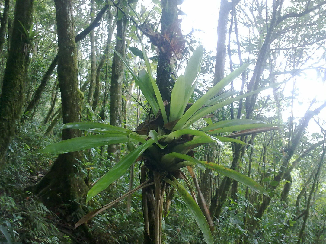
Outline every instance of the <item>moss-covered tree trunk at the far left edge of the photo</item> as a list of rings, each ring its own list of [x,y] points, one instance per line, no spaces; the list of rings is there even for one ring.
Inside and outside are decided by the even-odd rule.
[[[0,97],[0,166],[15,134],[24,103],[24,90],[29,63],[30,43],[23,35],[22,24],[29,30],[33,19],[34,0],[17,0],[10,51]]]

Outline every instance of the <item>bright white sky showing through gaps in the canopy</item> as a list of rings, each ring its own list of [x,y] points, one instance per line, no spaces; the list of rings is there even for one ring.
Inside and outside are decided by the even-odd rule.
[[[194,28],[194,39],[200,41],[200,43],[205,47],[206,52],[212,51],[212,55],[216,54],[219,6],[220,1],[215,0],[205,0],[200,1],[200,3],[195,0],[184,0],[180,8],[181,11],[186,14],[185,16],[182,16],[183,21],[181,23],[181,26],[183,29],[183,34],[188,34],[192,30],[192,28]],[[253,31],[253,33],[255,33],[255,31]],[[244,29],[241,29],[241,27],[239,27],[239,34],[239,36],[245,36],[249,33],[247,29],[244,31]],[[320,62],[315,62],[316,60],[322,59],[322,63],[325,63],[325,60],[320,57],[320,52],[316,52],[314,55],[316,57],[309,60],[309,63],[306,63],[305,67],[302,67],[306,68],[307,66],[310,66],[312,67],[312,69],[306,69],[300,76],[297,76],[296,78],[291,78],[283,92],[284,97],[291,97],[293,82],[296,82],[295,87],[297,89],[297,92],[295,96],[297,99],[295,99],[294,101],[294,117],[302,117],[307,108],[309,107],[310,102],[314,98],[316,98],[317,101],[325,100],[325,81],[322,81],[323,78],[320,76],[318,77],[316,70],[313,69],[313,67],[317,67],[320,65],[322,66]],[[227,63],[229,62],[228,57],[226,61]],[[238,61],[234,59],[233,62],[236,63]],[[226,69],[228,68],[229,66],[226,65]],[[281,81],[282,80],[278,80],[278,82]],[[319,105],[316,104],[313,109],[316,109]],[[287,121],[289,115],[290,107],[284,107],[283,120]],[[319,114],[319,118],[322,120],[326,120],[326,109],[321,111],[321,113]],[[310,122],[308,130],[311,131],[311,133],[320,131],[319,127],[313,120]]]

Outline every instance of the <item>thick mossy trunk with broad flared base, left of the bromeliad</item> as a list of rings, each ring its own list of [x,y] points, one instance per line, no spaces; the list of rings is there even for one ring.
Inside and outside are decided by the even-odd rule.
[[[74,35],[72,1],[55,0],[58,31],[58,81],[61,92],[63,123],[81,119],[83,94],[77,79],[77,50]],[[81,136],[79,130],[64,129],[62,140]],[[65,206],[65,213],[79,207],[79,200],[86,197],[88,188],[79,172],[79,152],[58,156],[49,173],[31,188],[47,206]],[[73,220],[74,221],[74,220]]]

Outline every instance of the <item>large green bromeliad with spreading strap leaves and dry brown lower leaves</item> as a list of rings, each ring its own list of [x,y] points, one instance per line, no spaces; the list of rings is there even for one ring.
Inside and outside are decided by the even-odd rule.
[[[205,241],[207,243],[213,243],[211,234],[213,223],[207,207],[205,207],[205,201],[199,192],[198,201],[204,206],[204,211],[202,212],[182,169],[187,168],[198,191],[200,191],[200,189],[193,171],[194,166],[198,166],[201,169],[209,168],[243,183],[253,191],[268,195],[267,191],[258,183],[239,172],[213,162],[195,159],[193,149],[207,143],[223,145],[224,142],[235,142],[245,144],[243,141],[230,138],[230,136],[223,137],[213,135],[222,132],[253,128],[272,128],[272,125],[268,126],[260,121],[249,119],[221,121],[205,126],[200,130],[193,130],[191,125],[207,114],[213,113],[215,110],[231,102],[258,93],[260,90],[266,88],[236,97],[234,97],[236,92],[233,91],[220,93],[226,85],[248,67],[248,65],[244,65],[221,80],[193,104],[188,103],[195,90],[200,74],[203,55],[203,48],[200,46],[189,59],[185,73],[177,78],[171,93],[170,103],[167,104],[162,100],[145,51],[143,51],[143,57],[147,71],[142,69],[138,75],[132,71],[119,53],[116,54],[123,60],[147,99],[151,106],[152,116],[150,116],[147,121],[140,124],[136,131],[101,123],[68,123],[63,126],[64,129],[85,130],[91,132],[91,135],[72,138],[48,145],[42,151],[48,153],[67,153],[96,146],[127,143],[130,153],[115,164],[109,172],[97,180],[93,188],[88,192],[86,202],[106,189],[120,176],[124,175],[127,169],[136,160],[141,160],[143,162],[143,166],[141,167],[141,185],[108,205],[87,214],[77,222],[76,227],[120,201],[127,195],[142,189],[145,228],[144,243],[159,244],[162,239],[161,221],[163,212],[167,211],[171,201],[170,196],[172,194],[168,194],[168,192],[171,193],[173,189],[176,189],[193,213]],[[138,146],[135,147],[135,145]],[[178,179],[184,180],[191,194]],[[165,193],[167,193],[167,197],[164,202]]]

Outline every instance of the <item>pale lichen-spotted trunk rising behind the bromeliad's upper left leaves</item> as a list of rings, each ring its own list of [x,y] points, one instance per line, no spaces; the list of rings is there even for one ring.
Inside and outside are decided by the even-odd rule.
[[[117,34],[115,51],[123,57],[126,52],[126,28],[127,18],[119,10],[117,11]],[[116,53],[113,55],[111,75],[111,100],[110,100],[110,124],[121,127],[122,122],[122,84],[124,80],[124,64]],[[120,145],[109,145],[108,156],[114,157],[114,161],[120,159]]]

